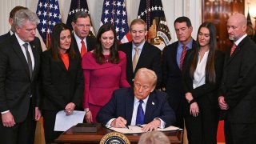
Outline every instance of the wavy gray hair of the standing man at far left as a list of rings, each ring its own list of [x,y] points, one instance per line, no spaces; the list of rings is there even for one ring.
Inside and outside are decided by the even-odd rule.
[[[15,26],[21,27],[26,21],[30,21],[35,25],[38,25],[39,18],[37,14],[31,10],[18,10],[14,16],[14,23],[11,29],[15,32]]]

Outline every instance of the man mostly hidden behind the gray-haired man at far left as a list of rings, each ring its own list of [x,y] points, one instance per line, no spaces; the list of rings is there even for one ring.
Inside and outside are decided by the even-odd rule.
[[[15,13],[16,13],[18,10],[22,10],[22,9],[27,9],[27,8],[26,8],[26,7],[23,7],[23,6],[15,6],[15,7],[13,8],[13,10],[10,11],[10,15],[9,15],[9,23],[10,23],[10,26],[13,25]],[[2,42],[3,40],[5,40],[6,38],[10,38],[10,36],[11,36],[12,34],[14,34],[14,30],[10,29],[8,33],[0,35],[0,42]]]

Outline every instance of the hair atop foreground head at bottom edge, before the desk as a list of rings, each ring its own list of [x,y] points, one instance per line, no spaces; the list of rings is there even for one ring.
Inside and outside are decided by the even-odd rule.
[[[139,138],[139,141],[138,141],[138,144],[168,144],[168,143],[170,143],[170,140],[166,136],[166,134],[157,130],[142,134],[141,138]]]

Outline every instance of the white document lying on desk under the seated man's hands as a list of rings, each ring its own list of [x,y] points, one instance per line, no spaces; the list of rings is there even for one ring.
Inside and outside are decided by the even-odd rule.
[[[129,127],[129,129],[127,129],[127,128],[114,128],[114,127],[110,127],[109,129],[117,131],[117,132],[122,133],[122,134],[144,133],[142,131],[142,127],[140,127],[140,126],[128,126],[128,127]],[[182,129],[179,129],[178,127],[175,127],[175,126],[169,126],[169,127],[164,128],[164,129],[158,128],[158,130],[159,131],[170,131],[170,130],[182,130]]]

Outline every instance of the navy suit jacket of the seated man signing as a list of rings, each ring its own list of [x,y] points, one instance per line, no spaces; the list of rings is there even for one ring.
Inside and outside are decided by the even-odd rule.
[[[161,118],[166,122],[166,126],[173,124],[175,122],[175,114],[166,101],[167,94],[154,90],[150,93],[149,97],[145,110],[145,123],[152,122],[154,118]],[[114,90],[110,102],[103,106],[102,110],[98,112],[97,121],[102,122],[102,125],[105,126],[111,118],[122,117],[125,118],[127,120],[127,124],[130,125],[133,109],[133,88],[130,87]]]

